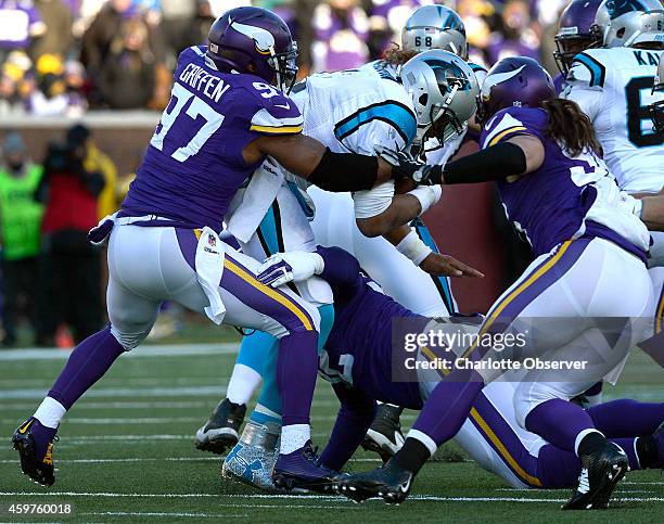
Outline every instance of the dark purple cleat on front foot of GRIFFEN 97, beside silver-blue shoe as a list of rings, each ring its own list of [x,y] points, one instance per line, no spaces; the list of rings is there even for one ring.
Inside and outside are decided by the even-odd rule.
[[[319,464],[311,440],[292,453],[279,455],[272,481],[274,486],[289,491],[299,488],[317,493],[331,493],[339,474]]]

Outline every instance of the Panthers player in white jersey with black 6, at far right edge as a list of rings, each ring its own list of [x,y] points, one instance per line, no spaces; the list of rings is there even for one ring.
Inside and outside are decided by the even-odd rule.
[[[597,131],[604,159],[622,190],[657,193],[664,187],[664,137],[654,132],[649,105],[664,100],[652,86],[664,49],[659,0],[609,1],[606,49],[578,54],[563,98],[576,102]],[[653,232],[649,266],[664,264],[664,235]]]

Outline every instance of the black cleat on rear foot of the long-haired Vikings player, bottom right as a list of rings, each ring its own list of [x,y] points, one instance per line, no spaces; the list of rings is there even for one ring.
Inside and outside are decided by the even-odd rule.
[[[593,453],[583,456],[578,486],[563,510],[603,510],[615,486],[629,471],[627,455],[620,446],[606,443]]]

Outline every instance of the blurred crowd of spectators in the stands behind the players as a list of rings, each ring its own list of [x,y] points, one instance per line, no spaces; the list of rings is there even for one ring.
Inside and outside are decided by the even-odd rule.
[[[177,55],[205,41],[222,12],[272,9],[291,26],[301,74],[379,57],[413,8],[444,3],[467,25],[471,57],[510,54],[549,68],[564,0],[0,0],[0,116],[161,110]]]

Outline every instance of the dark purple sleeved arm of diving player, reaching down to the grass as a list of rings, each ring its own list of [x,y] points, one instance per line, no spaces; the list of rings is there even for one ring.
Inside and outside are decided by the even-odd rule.
[[[333,384],[334,393],[341,400],[336,422],[320,461],[334,471],[341,471],[362,443],[367,430],[375,417],[375,400],[347,384]]]

